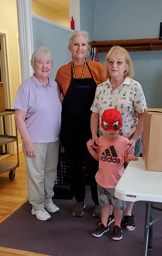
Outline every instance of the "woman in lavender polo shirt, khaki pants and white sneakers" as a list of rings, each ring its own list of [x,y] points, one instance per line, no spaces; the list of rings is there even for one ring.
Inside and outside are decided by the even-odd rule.
[[[39,220],[50,220],[48,212],[59,211],[52,196],[58,163],[61,99],[58,84],[49,78],[52,65],[49,50],[36,49],[31,59],[35,73],[19,86],[13,104],[22,138],[31,213]]]

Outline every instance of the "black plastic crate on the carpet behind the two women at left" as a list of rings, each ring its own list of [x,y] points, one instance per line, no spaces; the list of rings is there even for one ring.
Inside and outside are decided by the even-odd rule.
[[[53,187],[55,199],[72,199],[69,160],[65,149],[59,147],[57,176]]]

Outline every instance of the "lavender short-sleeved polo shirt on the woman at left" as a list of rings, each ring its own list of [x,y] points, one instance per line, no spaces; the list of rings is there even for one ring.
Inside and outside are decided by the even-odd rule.
[[[25,124],[32,142],[59,139],[62,106],[57,82],[49,78],[46,87],[31,76],[19,86],[13,108],[27,112]]]

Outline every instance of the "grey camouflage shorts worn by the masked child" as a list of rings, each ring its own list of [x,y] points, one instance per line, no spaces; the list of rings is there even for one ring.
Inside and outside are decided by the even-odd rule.
[[[118,210],[126,209],[126,202],[114,196],[115,188],[103,188],[97,184],[98,202],[101,206],[112,205]]]

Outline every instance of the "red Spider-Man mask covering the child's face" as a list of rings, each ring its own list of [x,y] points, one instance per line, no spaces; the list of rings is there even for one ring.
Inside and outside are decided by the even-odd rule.
[[[107,109],[101,116],[101,127],[105,131],[119,131],[122,126],[121,114],[117,109]]]

